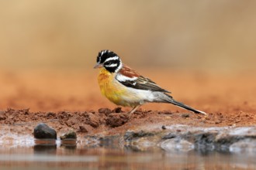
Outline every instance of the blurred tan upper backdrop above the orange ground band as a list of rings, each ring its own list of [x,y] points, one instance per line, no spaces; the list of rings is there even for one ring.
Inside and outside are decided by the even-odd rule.
[[[131,66],[254,70],[256,2],[1,1],[2,69],[88,68],[101,49]]]

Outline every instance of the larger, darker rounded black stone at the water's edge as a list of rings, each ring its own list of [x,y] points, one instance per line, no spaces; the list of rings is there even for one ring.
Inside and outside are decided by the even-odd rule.
[[[34,128],[34,138],[38,139],[57,139],[57,133],[53,128],[50,128],[47,124],[38,124]]]

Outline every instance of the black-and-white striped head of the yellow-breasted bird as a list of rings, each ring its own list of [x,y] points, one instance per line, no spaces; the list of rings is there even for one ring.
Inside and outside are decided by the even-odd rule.
[[[109,50],[102,50],[97,56],[97,64],[94,68],[101,68],[102,66],[110,73],[115,73],[122,68],[123,64],[116,53]]]

